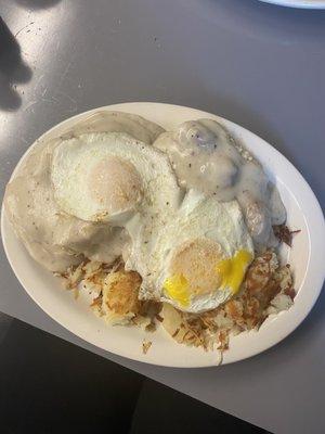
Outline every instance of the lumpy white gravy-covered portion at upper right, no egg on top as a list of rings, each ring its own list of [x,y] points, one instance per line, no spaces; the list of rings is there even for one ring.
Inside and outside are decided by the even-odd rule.
[[[261,165],[216,120],[185,122],[158,137],[154,146],[169,155],[180,186],[220,201],[236,199],[257,248],[274,246],[272,225],[286,210]]]

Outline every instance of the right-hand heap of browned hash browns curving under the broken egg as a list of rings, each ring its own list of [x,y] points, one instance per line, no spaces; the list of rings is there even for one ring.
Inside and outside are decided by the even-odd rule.
[[[258,329],[269,315],[289,308],[292,292],[289,268],[280,267],[275,253],[269,251],[252,261],[237,297],[204,314],[164,304],[162,327],[178,343],[226,350],[231,334]]]

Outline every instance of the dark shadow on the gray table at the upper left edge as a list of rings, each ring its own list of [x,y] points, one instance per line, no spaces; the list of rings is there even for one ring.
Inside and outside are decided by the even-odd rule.
[[[29,81],[31,75],[18,42],[0,17],[0,110],[15,111],[21,106],[16,85]]]

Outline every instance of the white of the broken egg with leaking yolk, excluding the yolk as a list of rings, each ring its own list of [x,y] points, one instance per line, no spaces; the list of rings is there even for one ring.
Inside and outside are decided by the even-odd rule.
[[[164,224],[164,225],[162,225]],[[187,307],[168,296],[164,282],[170,276],[170,261],[174,252],[192,240],[206,239],[218,243],[223,257],[232,258],[244,250],[253,257],[253,245],[236,201],[220,203],[214,197],[190,190],[180,208],[174,209],[160,226],[156,221],[150,231],[127,227],[132,239],[132,251],[127,261],[129,269],[138,270],[142,278],[140,298],[157,299],[179,309],[200,312],[218,307],[232,297],[231,288],[192,297]],[[146,239],[147,238],[147,239]]]

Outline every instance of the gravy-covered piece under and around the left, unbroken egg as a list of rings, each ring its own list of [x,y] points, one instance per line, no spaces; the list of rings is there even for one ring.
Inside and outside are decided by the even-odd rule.
[[[98,131],[123,132],[147,144],[162,131],[140,116],[99,112],[66,128],[61,137],[39,141],[6,187],[5,209],[29,254],[51,271],[65,271],[83,257],[112,263],[128,242],[120,227],[79,219],[65,213],[54,196],[52,162],[55,149],[72,138]]]

